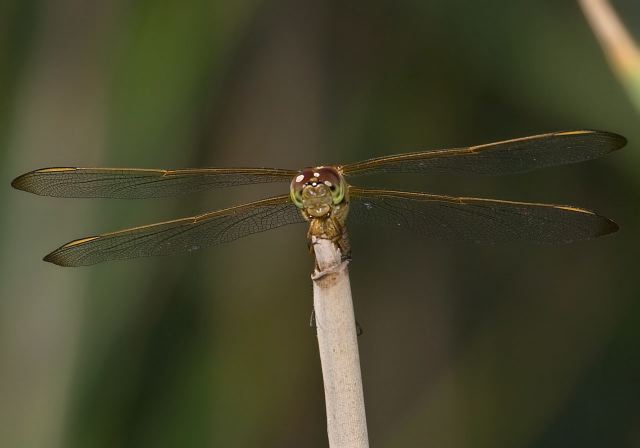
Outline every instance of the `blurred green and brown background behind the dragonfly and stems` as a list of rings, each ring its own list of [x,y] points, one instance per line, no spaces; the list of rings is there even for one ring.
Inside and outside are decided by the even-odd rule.
[[[619,1],[640,33],[640,4]],[[44,166],[308,165],[572,128],[594,162],[372,186],[580,205],[621,231],[482,247],[352,226],[372,446],[640,446],[640,115],[574,2],[5,0],[0,446],[324,447],[305,227],[66,269],[85,235],[255,200],[42,198]]]

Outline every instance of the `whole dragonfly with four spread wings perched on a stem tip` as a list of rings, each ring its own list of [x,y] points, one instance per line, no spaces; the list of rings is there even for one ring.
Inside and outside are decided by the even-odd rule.
[[[450,241],[569,243],[613,233],[618,226],[574,206],[362,188],[350,181],[380,173],[523,173],[595,159],[625,144],[624,137],[611,132],[573,130],[302,170],[51,167],[23,174],[12,185],[43,196],[144,199],[247,184],[290,183],[289,192],[279,196],[71,241],[44,257],[60,266],[191,253],[304,222],[309,238],[330,239],[347,257],[347,221]]]

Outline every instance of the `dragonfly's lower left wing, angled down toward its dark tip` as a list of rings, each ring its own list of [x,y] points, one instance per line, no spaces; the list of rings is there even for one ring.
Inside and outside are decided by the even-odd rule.
[[[277,196],[191,218],[71,241],[44,260],[60,266],[194,252],[287,224],[304,222],[289,196]]]

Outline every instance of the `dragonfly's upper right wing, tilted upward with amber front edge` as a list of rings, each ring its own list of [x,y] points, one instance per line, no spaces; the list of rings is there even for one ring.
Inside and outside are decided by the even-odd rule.
[[[512,174],[583,162],[622,148],[626,139],[602,131],[566,131],[486,145],[378,157],[341,167],[346,176],[376,173]]]

